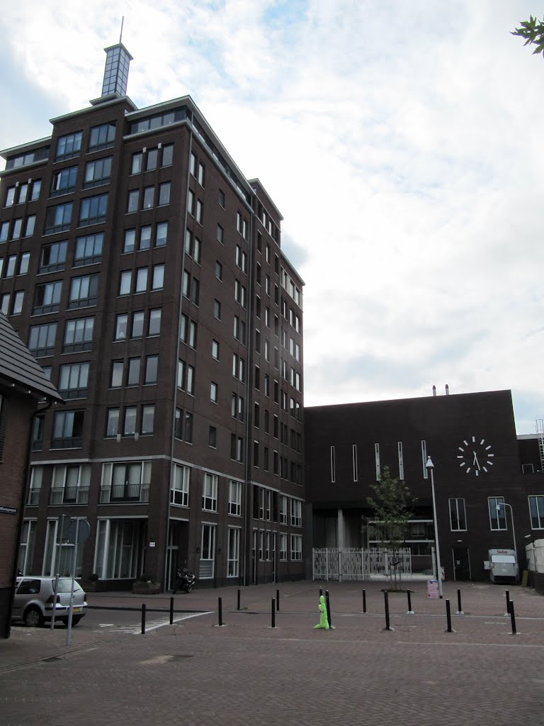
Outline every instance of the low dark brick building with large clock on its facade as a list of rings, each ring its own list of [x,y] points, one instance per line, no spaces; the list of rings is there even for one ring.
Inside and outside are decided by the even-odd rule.
[[[544,529],[543,439],[516,437],[510,391],[308,407],[305,441],[308,548],[376,544],[366,500],[388,466],[417,497],[406,544],[413,568],[429,567],[429,456],[449,579],[487,579],[487,550],[514,547],[512,517],[522,566],[524,544]]]

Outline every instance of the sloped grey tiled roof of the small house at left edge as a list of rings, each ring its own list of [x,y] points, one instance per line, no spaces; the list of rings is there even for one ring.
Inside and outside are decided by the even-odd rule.
[[[43,370],[28,348],[15,333],[7,317],[0,312],[0,378],[16,386],[28,388],[32,393],[62,401],[57,388],[46,378]]]

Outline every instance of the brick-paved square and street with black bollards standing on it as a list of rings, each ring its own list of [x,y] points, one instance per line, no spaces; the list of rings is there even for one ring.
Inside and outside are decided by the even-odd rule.
[[[444,632],[444,602],[426,600],[423,584],[413,587],[416,615],[405,614],[405,595],[390,595],[394,632],[383,631],[383,584],[366,585],[366,614],[362,585],[326,585],[336,626],[329,632],[312,629],[318,583],[278,587],[275,629],[275,585],[242,588],[247,610],[240,612],[236,588],[176,595],[176,608],[213,612],[144,636],[76,628],[66,648],[62,629],[14,628],[10,640],[0,641],[1,722],[543,724],[544,598],[531,590],[509,589],[520,632],[512,636],[504,589],[488,584],[463,585],[463,611],[470,614],[453,614],[456,633]],[[220,594],[224,627],[217,625]],[[455,613],[456,587],[446,583],[445,597]],[[89,595],[95,605],[141,600],[129,593]],[[164,596],[145,600],[149,608],[169,603]],[[137,626],[139,613],[127,614]]]

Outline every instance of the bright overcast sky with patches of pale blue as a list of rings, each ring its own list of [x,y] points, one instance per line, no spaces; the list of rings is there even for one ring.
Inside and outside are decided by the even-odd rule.
[[[540,5],[540,7],[539,7]],[[134,57],[139,107],[191,94],[284,216],[305,404],[511,388],[544,418],[544,60],[525,0],[25,0],[0,17],[0,147]]]

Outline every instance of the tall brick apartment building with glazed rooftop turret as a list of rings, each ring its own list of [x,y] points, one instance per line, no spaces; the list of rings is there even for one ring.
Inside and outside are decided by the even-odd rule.
[[[122,587],[302,567],[302,286],[281,214],[192,101],[102,96],[1,152],[0,305],[65,399],[38,417],[20,564]]]

